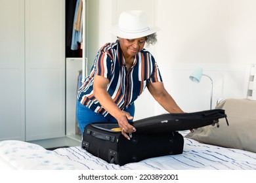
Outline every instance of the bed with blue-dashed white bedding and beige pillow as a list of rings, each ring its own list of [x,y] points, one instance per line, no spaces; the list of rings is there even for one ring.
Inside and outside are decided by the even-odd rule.
[[[236,107],[234,107],[236,106]],[[179,155],[144,159],[123,166],[107,163],[81,146],[46,150],[23,141],[0,142],[0,169],[26,170],[256,170],[256,101],[227,99],[225,121],[190,131],[184,136]],[[224,120],[224,119],[223,119]]]

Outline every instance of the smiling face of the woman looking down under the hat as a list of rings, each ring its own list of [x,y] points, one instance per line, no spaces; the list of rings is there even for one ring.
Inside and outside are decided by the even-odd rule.
[[[144,47],[146,37],[140,37],[137,39],[123,39],[118,38],[125,57],[136,56]]]

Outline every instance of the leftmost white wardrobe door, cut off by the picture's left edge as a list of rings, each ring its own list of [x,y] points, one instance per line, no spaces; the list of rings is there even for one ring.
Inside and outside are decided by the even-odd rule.
[[[0,141],[24,141],[24,0],[1,0],[0,22]]]

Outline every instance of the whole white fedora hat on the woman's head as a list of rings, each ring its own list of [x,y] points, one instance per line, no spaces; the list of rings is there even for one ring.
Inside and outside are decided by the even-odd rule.
[[[159,30],[159,27],[148,25],[145,12],[130,10],[120,14],[118,25],[112,28],[112,33],[124,39],[137,39],[156,33]]]

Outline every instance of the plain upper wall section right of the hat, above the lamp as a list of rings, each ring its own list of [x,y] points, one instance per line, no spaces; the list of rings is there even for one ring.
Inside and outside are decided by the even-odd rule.
[[[256,1],[159,0],[158,57],[171,63],[255,62]]]

